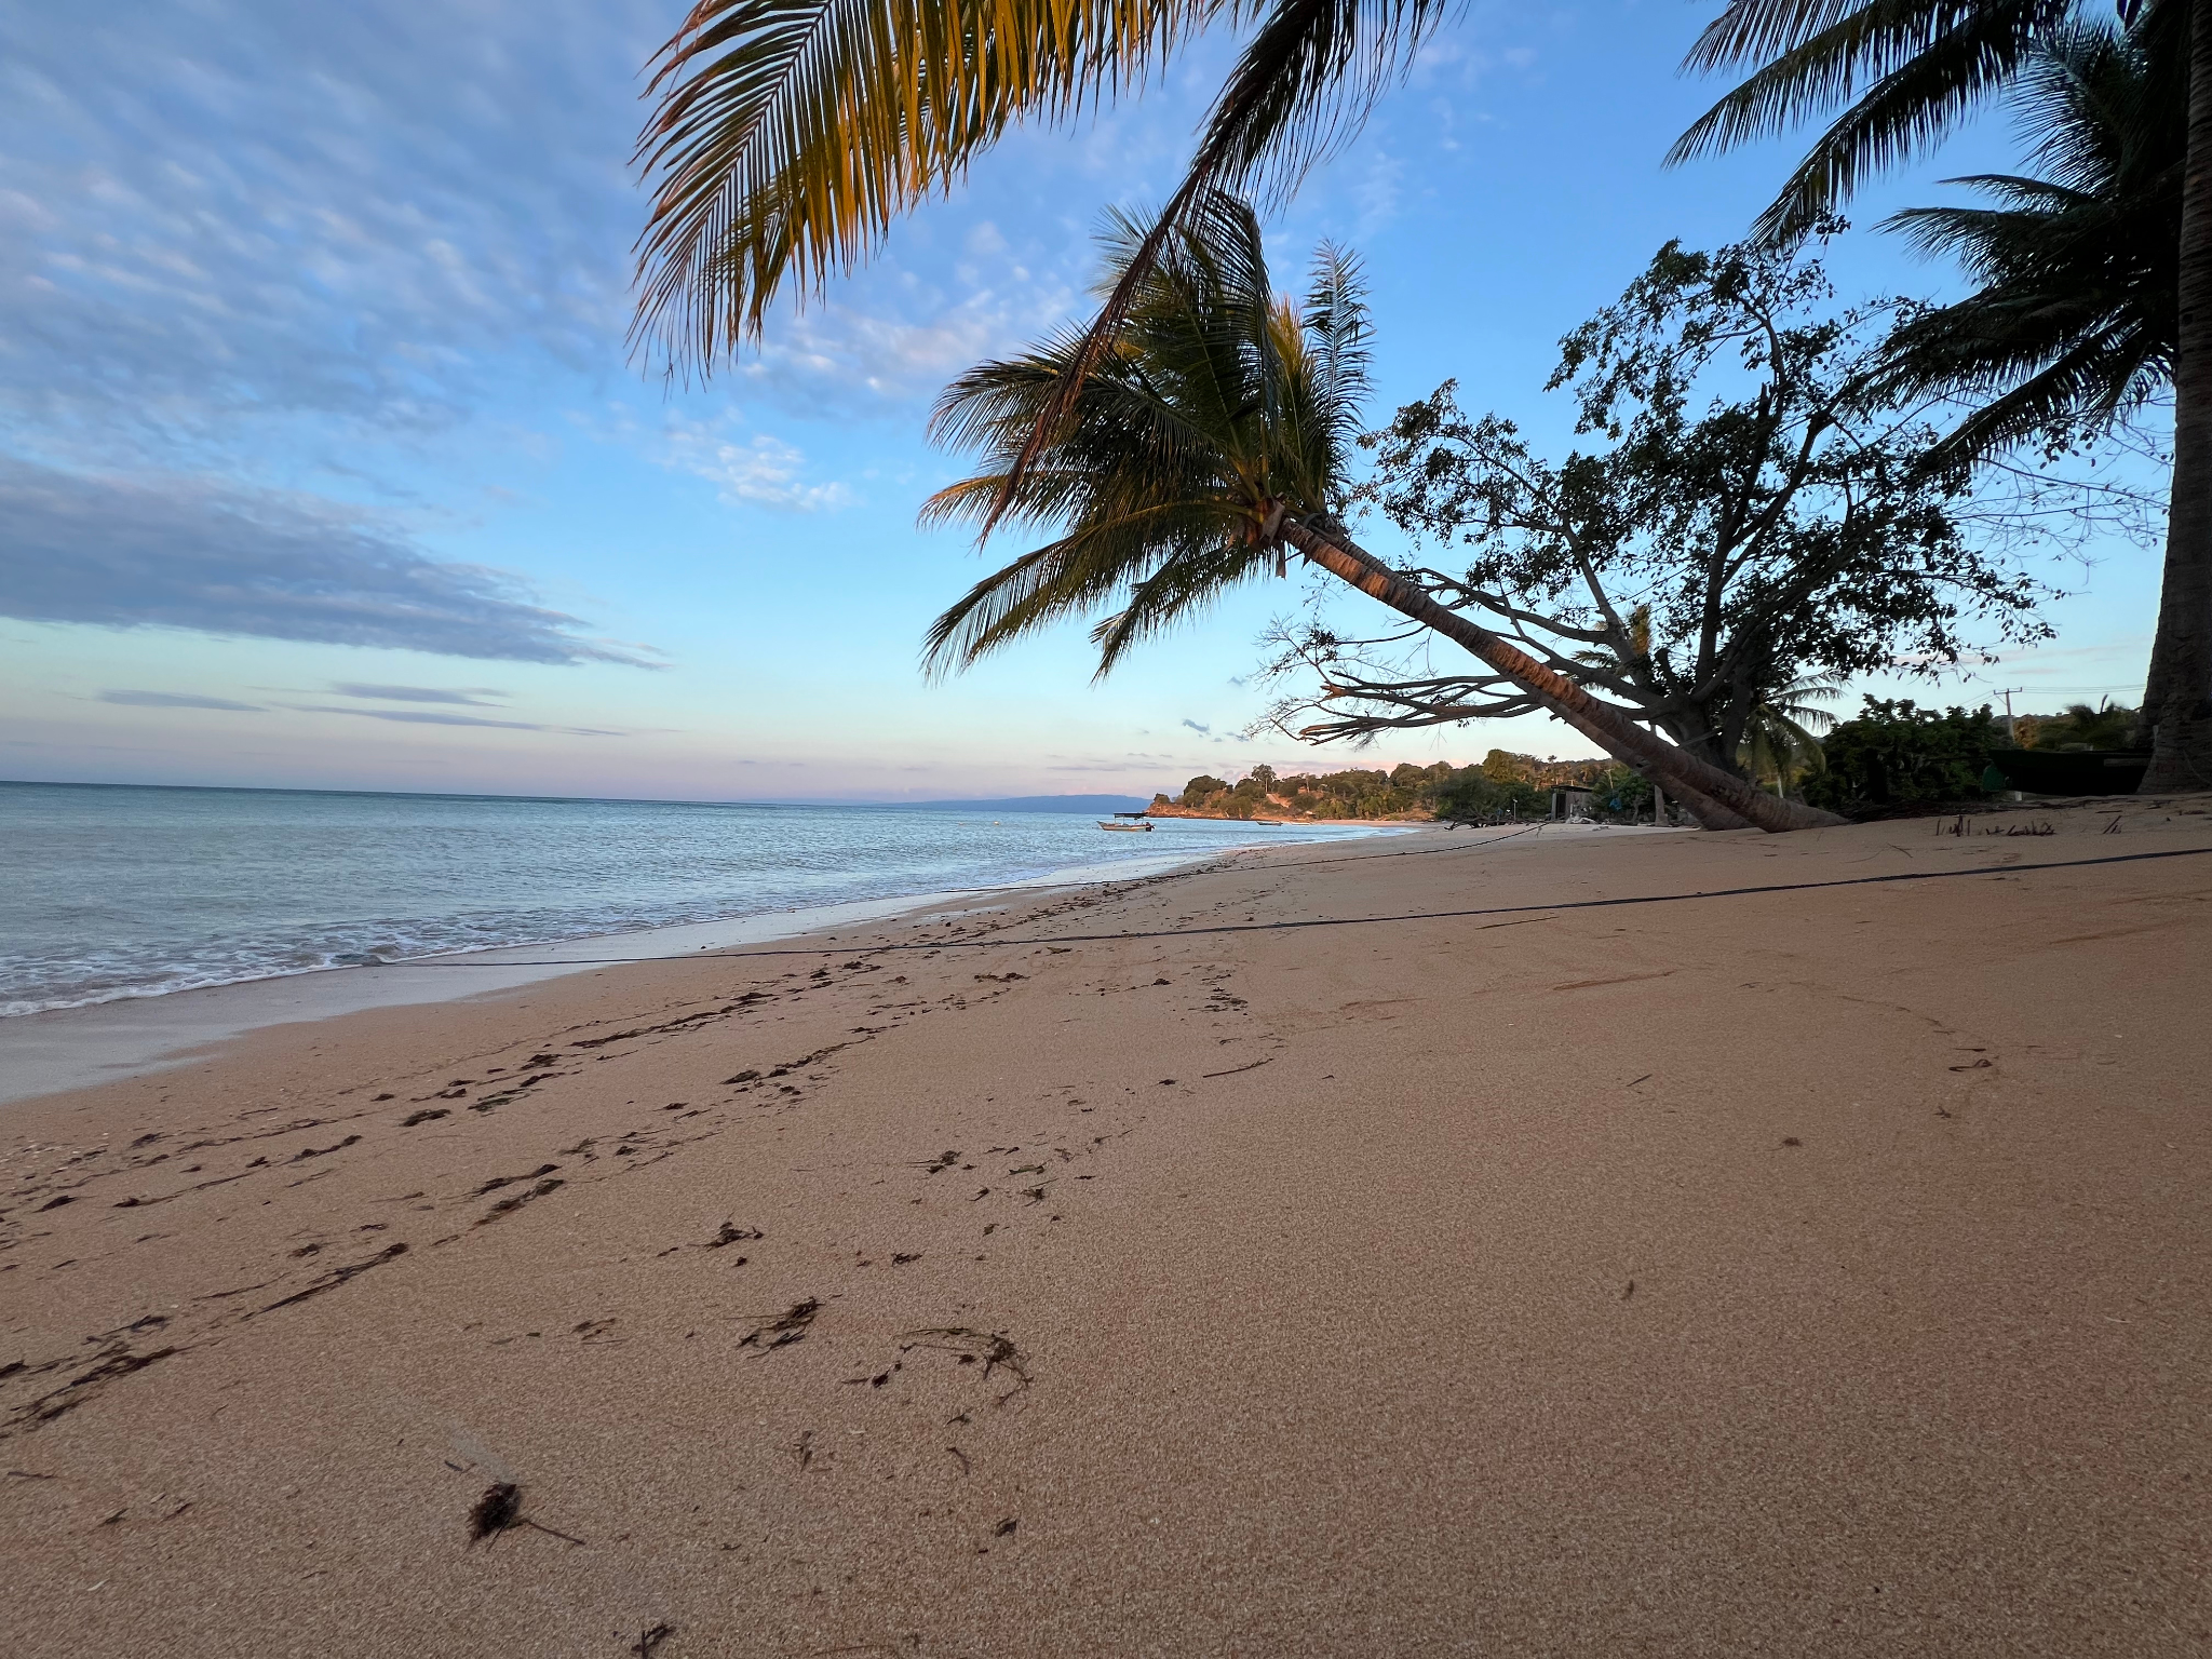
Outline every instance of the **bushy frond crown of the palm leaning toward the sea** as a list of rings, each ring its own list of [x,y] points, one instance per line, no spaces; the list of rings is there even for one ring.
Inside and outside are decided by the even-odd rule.
[[[1110,219],[1104,241],[1106,281],[1119,283],[1141,252],[1139,221]],[[1272,294],[1252,206],[1208,201],[1159,250],[1110,349],[1018,478],[1037,409],[1082,343],[1060,336],[962,374],[931,434],[980,451],[984,471],[938,491],[925,522],[989,538],[1004,498],[1009,520],[1062,533],[940,615],[925,666],[951,672],[1071,615],[1102,615],[1091,641],[1106,675],[1135,644],[1279,568],[1270,513],[1329,513],[1360,429],[1365,296],[1352,261],[1332,270],[1316,327]]]

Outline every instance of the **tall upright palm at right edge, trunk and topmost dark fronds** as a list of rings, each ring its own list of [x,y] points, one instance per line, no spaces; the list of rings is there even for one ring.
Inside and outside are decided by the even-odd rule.
[[[1924,153],[2008,88],[2077,15],[2119,15],[2161,64],[2188,66],[2179,223],[2174,473],[2166,575],[2143,719],[2146,790],[2212,787],[2212,2],[2199,0],[1728,0],[1688,66],[1752,73],[1674,144],[1725,150],[1823,111],[1840,113],[1761,217],[1790,237],[1871,173]],[[2179,93],[2177,93],[2179,95]]]

